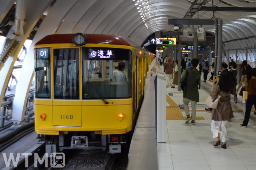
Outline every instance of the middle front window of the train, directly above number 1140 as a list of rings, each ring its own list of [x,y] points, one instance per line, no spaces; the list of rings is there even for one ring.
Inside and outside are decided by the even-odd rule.
[[[54,99],[79,99],[79,49],[53,49]]]

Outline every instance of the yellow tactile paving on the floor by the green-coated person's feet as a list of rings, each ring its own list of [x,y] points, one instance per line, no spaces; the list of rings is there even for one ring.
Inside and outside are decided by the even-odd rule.
[[[183,117],[180,107],[166,94],[166,102],[170,106],[166,106],[166,120],[186,120]],[[196,117],[196,120],[205,120],[204,117]]]

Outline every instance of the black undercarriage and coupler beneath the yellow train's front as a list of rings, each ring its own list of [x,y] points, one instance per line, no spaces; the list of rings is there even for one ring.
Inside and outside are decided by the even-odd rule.
[[[131,132],[126,134],[102,135],[91,132],[68,132],[60,135],[39,135],[46,141],[46,153],[62,152],[65,149],[102,149],[109,153],[120,153],[129,149]]]

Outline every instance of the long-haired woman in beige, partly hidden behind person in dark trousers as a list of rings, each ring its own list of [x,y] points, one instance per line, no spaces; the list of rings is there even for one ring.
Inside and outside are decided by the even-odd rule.
[[[251,78],[252,78],[252,67],[249,64],[247,64],[244,66],[244,74],[242,75],[242,78],[240,80],[236,93],[238,93],[241,86],[243,86],[243,88],[248,87],[248,82],[249,80],[251,80]],[[245,114],[245,109],[246,109],[246,104],[243,104],[244,114]]]

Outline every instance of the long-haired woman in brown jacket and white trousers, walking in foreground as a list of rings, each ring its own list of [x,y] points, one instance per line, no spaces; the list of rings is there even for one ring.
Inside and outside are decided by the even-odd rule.
[[[234,117],[233,110],[230,104],[230,94],[235,94],[233,91],[233,83],[229,72],[222,73],[218,84],[211,88],[210,96],[215,99],[220,96],[219,104],[216,109],[212,109],[211,131],[216,142],[213,146],[218,147],[222,142],[221,147],[226,149],[226,136],[228,121]]]

